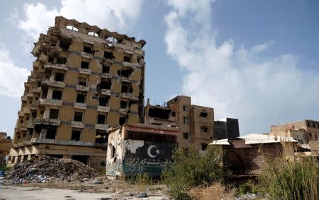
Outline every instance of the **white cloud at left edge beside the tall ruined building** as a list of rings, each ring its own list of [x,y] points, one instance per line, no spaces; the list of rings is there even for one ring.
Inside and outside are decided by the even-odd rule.
[[[16,66],[3,45],[0,45],[0,95],[20,98],[23,94],[23,82],[30,71]]]

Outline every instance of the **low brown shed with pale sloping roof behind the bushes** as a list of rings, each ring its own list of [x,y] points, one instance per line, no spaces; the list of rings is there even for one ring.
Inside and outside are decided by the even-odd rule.
[[[254,175],[260,172],[267,156],[293,158],[293,147],[297,142],[291,137],[248,134],[234,139],[213,141],[211,145],[223,148],[224,163],[233,174]]]

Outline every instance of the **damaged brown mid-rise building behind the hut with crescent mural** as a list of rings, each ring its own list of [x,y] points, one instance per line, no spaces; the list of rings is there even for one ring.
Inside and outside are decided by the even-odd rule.
[[[179,95],[163,106],[150,105],[147,100],[144,121],[145,124],[179,127],[177,143],[182,148],[193,145],[197,150],[204,151],[213,141],[213,108],[191,105],[191,98],[187,96]]]

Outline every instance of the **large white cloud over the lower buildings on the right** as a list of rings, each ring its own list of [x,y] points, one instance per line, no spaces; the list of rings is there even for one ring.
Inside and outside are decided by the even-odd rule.
[[[318,71],[301,68],[290,54],[264,57],[272,40],[250,49],[236,47],[232,39],[216,45],[212,1],[167,4],[167,53],[186,69],[183,93],[193,103],[214,107],[216,119],[239,118],[241,134],[268,131],[279,120],[319,117],[313,112],[319,102]]]

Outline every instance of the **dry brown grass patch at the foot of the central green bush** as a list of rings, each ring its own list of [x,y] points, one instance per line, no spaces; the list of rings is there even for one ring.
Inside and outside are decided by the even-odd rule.
[[[220,182],[216,182],[210,187],[194,187],[187,194],[194,200],[227,200],[234,199],[235,189],[228,191]]]

